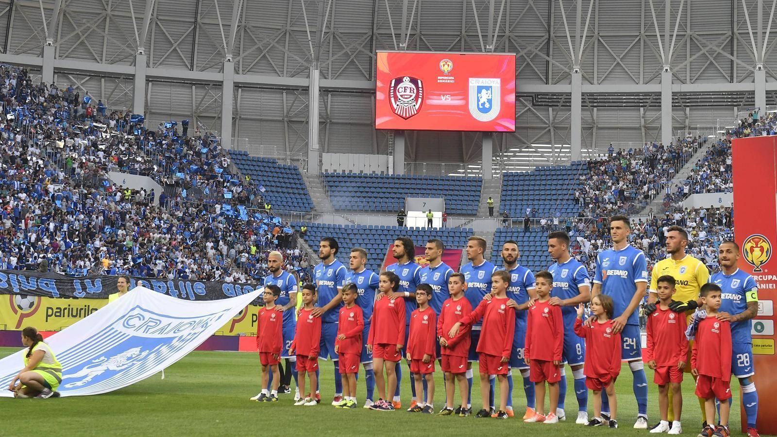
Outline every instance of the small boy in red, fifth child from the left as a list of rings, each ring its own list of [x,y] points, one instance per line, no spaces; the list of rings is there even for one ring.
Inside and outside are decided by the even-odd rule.
[[[409,408],[411,413],[434,414],[434,344],[437,342],[437,315],[429,306],[432,297],[429,284],[416,287],[418,309],[410,314],[410,335],[407,340],[407,361],[416,384],[416,393],[423,393],[422,378],[427,380],[427,398]]]

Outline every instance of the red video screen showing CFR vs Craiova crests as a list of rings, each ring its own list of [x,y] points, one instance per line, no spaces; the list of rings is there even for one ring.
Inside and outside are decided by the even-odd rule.
[[[378,51],[375,128],[515,131],[515,55]]]

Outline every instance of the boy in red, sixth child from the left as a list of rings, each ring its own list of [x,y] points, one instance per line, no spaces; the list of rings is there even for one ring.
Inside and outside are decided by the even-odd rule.
[[[458,391],[461,393],[462,404],[459,405],[459,416],[465,417],[472,414],[469,404],[469,383],[467,383],[467,358],[469,356],[469,344],[472,337],[470,328],[464,327],[458,334],[451,337],[448,333],[451,327],[472,313],[472,304],[465,299],[464,292],[467,289],[467,281],[462,273],[451,274],[448,278],[448,292],[451,298],[442,304],[440,318],[437,319],[437,337],[440,337],[440,351],[442,355],[441,368],[445,372],[445,407],[440,411],[443,416],[454,413],[453,396],[456,391],[454,378],[458,381]]]

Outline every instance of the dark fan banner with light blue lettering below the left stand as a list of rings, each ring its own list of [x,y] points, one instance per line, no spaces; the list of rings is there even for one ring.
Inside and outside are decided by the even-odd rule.
[[[117,292],[118,276],[89,275],[71,278],[58,273],[0,270],[0,295],[37,295],[108,299]],[[217,300],[253,292],[261,285],[192,279],[130,278],[130,288],[148,287],[178,299]]]

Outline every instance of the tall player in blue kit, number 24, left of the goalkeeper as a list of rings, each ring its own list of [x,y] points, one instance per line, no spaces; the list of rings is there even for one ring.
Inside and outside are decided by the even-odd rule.
[[[596,257],[596,274],[591,296],[608,295],[615,304],[613,329],[621,333],[621,358],[629,363],[633,376],[637,404],[636,429],[647,429],[647,377],[642,361],[642,340],[639,334],[639,302],[647,290],[647,261],[642,250],[629,244],[631,222],[625,215],[610,218],[612,249]],[[602,396],[601,415],[609,413],[607,396]]]

